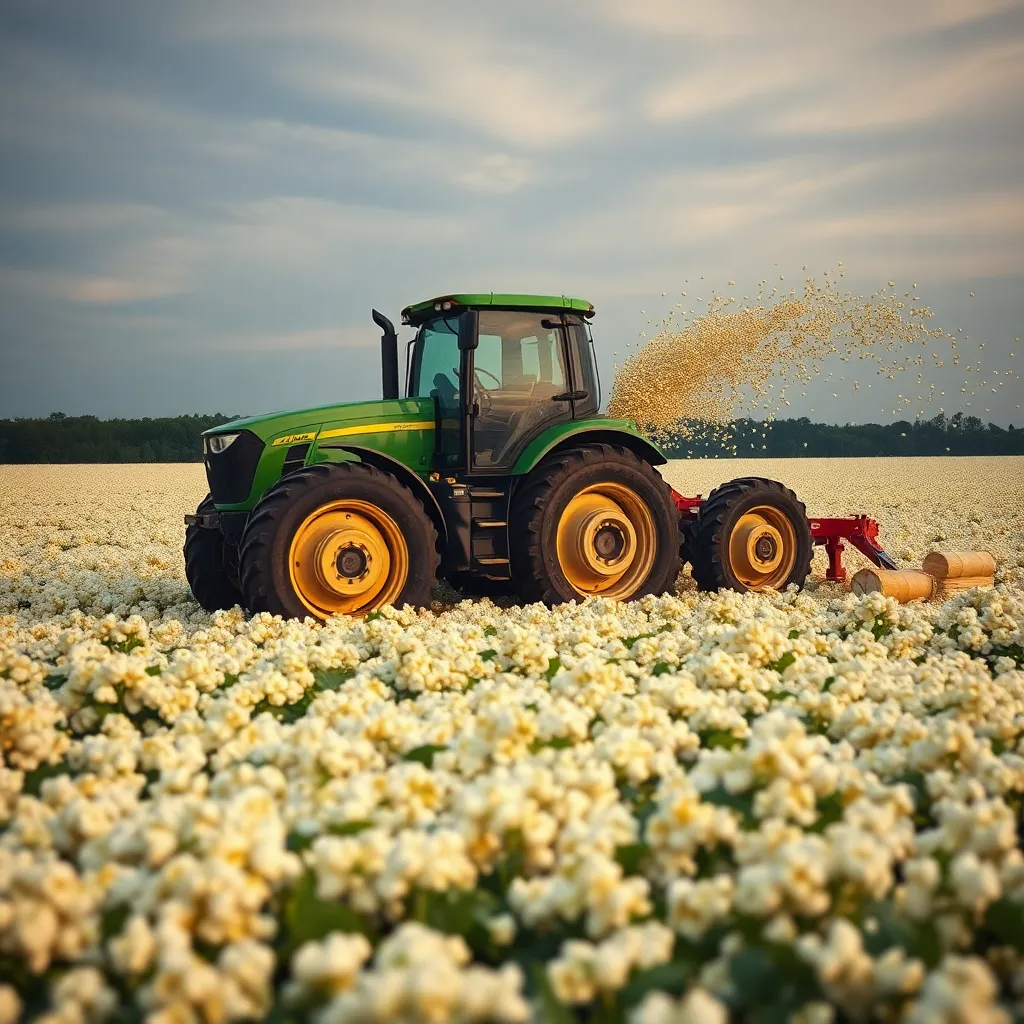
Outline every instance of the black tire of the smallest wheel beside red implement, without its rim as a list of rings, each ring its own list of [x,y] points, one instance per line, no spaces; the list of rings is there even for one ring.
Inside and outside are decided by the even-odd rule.
[[[768,506],[783,514],[796,537],[796,558],[785,579],[775,586],[803,587],[811,571],[814,542],[804,503],[784,484],[760,476],[743,476],[723,483],[700,506],[696,522],[687,538],[690,572],[698,589],[746,591],[752,588],[736,575],[729,557],[729,541],[740,518],[751,509]]]

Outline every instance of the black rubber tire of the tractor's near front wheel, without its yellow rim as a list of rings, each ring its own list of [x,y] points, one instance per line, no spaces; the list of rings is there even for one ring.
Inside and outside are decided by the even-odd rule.
[[[395,606],[430,604],[439,555],[437,531],[422,504],[403,483],[366,463],[322,463],[289,473],[267,489],[246,524],[239,555],[242,593],[250,611],[286,618],[314,614],[296,594],[289,552],[299,526],[317,508],[343,499],[369,502],[394,521],[409,552],[409,571]],[[359,613],[373,610],[360,609]]]

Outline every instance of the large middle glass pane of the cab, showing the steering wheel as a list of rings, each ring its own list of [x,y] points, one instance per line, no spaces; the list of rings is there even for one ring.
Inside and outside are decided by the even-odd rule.
[[[565,393],[561,332],[544,327],[550,314],[480,312],[473,353],[473,465],[507,469],[545,427],[571,416]]]

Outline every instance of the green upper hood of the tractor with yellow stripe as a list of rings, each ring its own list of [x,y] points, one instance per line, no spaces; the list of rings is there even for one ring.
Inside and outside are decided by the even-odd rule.
[[[390,398],[375,401],[349,401],[337,406],[317,406],[292,412],[266,413],[242,420],[221,423],[203,432],[213,434],[238,433],[248,430],[264,443],[272,443],[290,433],[317,433],[319,430],[344,430],[352,433],[367,431],[375,425],[395,429],[395,424],[407,421],[412,429],[433,426],[433,398]],[[427,424],[426,421],[429,421]],[[415,424],[415,427],[414,427]],[[311,438],[310,438],[311,439]]]

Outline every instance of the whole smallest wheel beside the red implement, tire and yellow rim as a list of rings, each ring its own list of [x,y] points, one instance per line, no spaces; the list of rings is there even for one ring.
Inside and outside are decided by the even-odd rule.
[[[777,480],[730,480],[700,506],[686,553],[700,590],[803,587],[814,553],[807,509]]]

